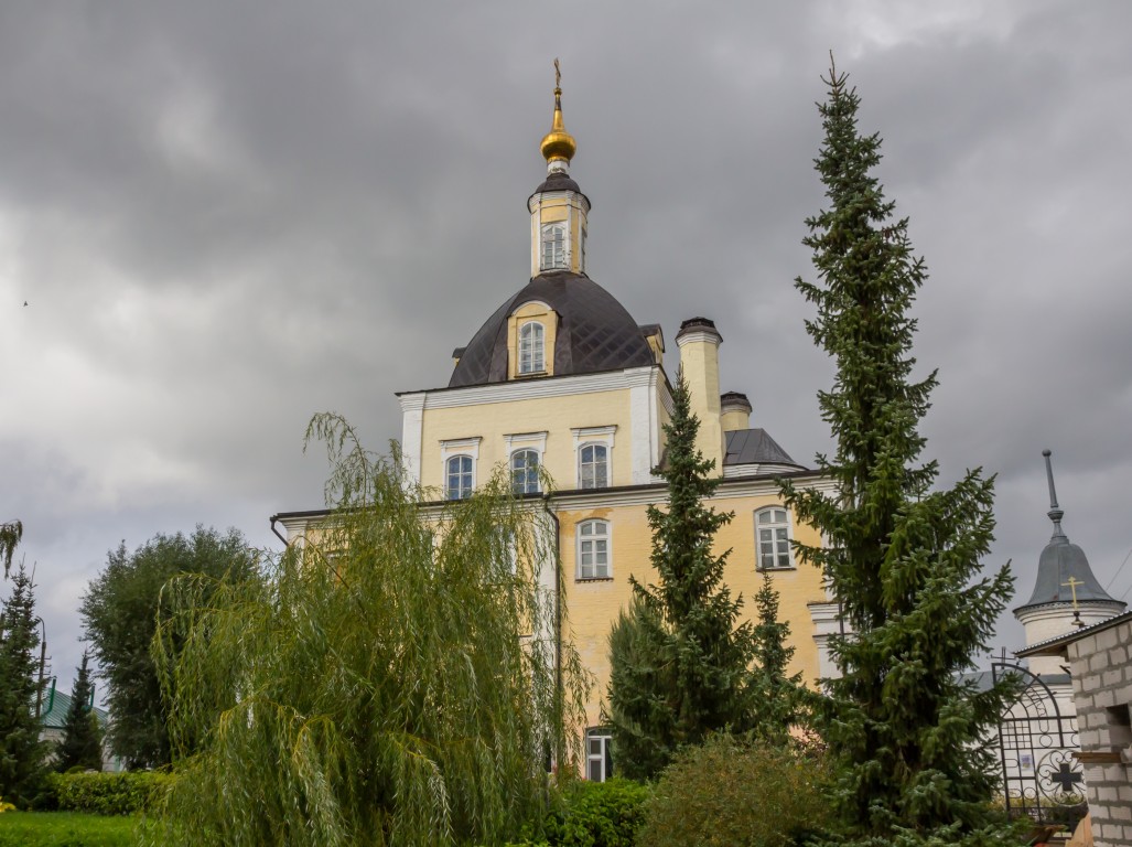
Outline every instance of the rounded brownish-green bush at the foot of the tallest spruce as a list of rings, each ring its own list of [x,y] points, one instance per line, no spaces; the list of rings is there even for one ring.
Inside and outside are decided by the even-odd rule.
[[[830,823],[822,758],[792,743],[715,735],[684,750],[645,806],[638,845],[791,845]]]

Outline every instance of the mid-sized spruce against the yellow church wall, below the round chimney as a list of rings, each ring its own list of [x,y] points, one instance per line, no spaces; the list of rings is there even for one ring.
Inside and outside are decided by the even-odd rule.
[[[754,640],[738,624],[741,598],[723,583],[727,553],[715,532],[734,516],[705,507],[719,480],[696,450],[700,420],[683,375],[664,426],[668,511],[649,507],[657,584],[633,580],[634,602],[610,635],[609,722],[615,761],[628,777],[651,778],[686,744],[752,721]]]

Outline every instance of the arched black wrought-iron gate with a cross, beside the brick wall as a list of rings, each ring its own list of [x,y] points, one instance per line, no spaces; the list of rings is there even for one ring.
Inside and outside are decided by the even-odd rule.
[[[1049,686],[1026,668],[1002,658],[990,673],[995,682],[1007,674],[1021,681],[1021,694],[998,724],[1006,813],[1072,831],[1088,811],[1084,771],[1072,755],[1081,748],[1077,717],[1063,715]]]

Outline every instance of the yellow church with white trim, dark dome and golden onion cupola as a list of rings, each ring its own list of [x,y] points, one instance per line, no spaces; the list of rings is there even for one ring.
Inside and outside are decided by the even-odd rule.
[[[531,277],[453,353],[448,384],[397,395],[401,451],[410,480],[443,499],[460,499],[505,468],[516,494],[552,516],[561,592],[561,638],[594,676],[586,707],[586,776],[609,773],[609,736],[601,703],[609,682],[608,636],[632,597],[629,578],[654,581],[649,505],[666,503],[653,473],[664,459],[663,425],[671,407],[663,331],[637,324],[589,276],[585,243],[590,200],[569,176],[575,142],[555,91],[551,131],[543,138],[547,178],[528,200]],[[816,568],[799,563],[790,541],[820,544],[782,505],[777,478],[829,487],[796,463],[763,429],[751,427],[745,394],[721,393],[714,322],[685,320],[675,335],[693,411],[697,446],[722,480],[710,505],[734,512],[717,536],[730,549],[726,581],[745,598],[764,573],[790,623],[791,671],[813,684],[832,673],[824,645],[837,631],[837,607]],[[554,481],[551,490],[546,479]],[[276,515],[289,542],[318,522],[318,512]]]

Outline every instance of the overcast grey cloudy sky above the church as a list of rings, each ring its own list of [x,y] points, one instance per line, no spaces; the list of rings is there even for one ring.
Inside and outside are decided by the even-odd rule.
[[[529,276],[556,57],[593,279],[672,350],[713,318],[722,388],[808,464],[833,371],[792,280],[832,50],[931,272],[926,457],[998,473],[1018,605],[1052,448],[1066,532],[1129,593],[1130,32],[1116,0],[3,5],[0,520],[60,684],[120,540],[277,549],[272,514],[323,505],[311,413],[381,447],[395,391],[447,384]]]

